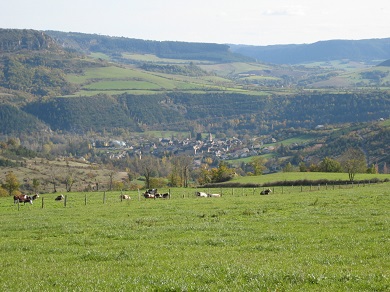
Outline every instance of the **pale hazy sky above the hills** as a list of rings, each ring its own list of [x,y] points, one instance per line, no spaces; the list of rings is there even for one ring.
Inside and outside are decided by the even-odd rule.
[[[0,28],[249,45],[390,37],[389,0],[8,0]]]

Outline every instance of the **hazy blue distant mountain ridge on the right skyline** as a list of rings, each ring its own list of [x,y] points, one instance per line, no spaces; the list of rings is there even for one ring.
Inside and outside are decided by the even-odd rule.
[[[390,38],[366,40],[329,40],[302,45],[230,45],[232,52],[259,62],[300,64],[348,59],[375,62],[390,59]]]

